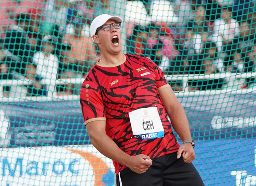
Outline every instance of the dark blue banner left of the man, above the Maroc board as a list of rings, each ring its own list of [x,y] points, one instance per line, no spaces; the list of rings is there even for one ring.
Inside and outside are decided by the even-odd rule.
[[[0,103],[11,147],[90,144],[79,101]]]

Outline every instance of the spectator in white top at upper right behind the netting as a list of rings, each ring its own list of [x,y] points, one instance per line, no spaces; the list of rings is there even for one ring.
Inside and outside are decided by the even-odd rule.
[[[213,40],[216,41],[218,51],[224,59],[224,67],[232,71],[230,51],[233,47],[233,39],[239,34],[239,22],[232,18],[232,6],[223,4],[221,19],[214,22]]]

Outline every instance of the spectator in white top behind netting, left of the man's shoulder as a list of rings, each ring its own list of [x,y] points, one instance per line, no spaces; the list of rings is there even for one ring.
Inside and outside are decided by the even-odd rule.
[[[31,89],[31,95],[48,95],[48,91],[54,91],[54,88],[49,88],[51,83],[49,81],[57,78],[57,71],[59,60],[54,55],[55,43],[57,40],[52,36],[43,37],[42,51],[34,55],[34,62],[36,64],[36,78],[38,81],[46,80],[46,83],[41,84],[40,89]],[[48,86],[47,86],[48,85]],[[55,86],[55,83],[54,83]]]

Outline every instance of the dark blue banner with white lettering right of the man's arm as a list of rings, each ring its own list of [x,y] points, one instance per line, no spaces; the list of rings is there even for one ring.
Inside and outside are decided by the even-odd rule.
[[[256,92],[178,96],[195,140],[256,138]]]

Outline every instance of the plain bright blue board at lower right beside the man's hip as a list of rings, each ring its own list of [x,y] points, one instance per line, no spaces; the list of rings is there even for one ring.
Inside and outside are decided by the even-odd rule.
[[[246,171],[239,186],[245,186],[244,179],[254,175],[256,138],[247,140],[209,140],[197,141],[195,148],[196,159],[193,164],[200,172],[206,186],[236,186],[236,176],[232,171]],[[253,186],[247,183],[248,186]]]

